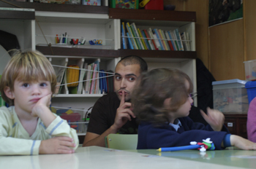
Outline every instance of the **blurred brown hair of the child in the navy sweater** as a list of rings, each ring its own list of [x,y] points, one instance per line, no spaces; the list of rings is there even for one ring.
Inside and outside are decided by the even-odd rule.
[[[189,89],[185,82],[189,82]],[[140,77],[132,92],[133,111],[139,121],[169,122],[169,112],[175,112],[192,93],[192,82],[187,74],[177,69],[156,68]],[[164,102],[171,98],[170,109]]]

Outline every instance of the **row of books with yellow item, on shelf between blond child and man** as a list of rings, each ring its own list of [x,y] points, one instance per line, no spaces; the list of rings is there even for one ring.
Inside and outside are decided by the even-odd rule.
[[[99,60],[53,68],[57,74],[56,94],[105,94],[114,90],[113,71],[99,70]]]

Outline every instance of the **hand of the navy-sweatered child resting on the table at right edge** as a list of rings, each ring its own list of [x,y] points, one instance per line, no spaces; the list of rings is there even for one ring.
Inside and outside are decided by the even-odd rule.
[[[256,150],[256,143],[253,143],[252,141],[249,141],[238,135],[230,135],[230,144],[231,146],[236,146],[239,149]]]

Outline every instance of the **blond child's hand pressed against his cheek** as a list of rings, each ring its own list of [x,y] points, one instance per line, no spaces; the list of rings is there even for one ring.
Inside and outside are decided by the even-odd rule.
[[[48,95],[43,96],[42,98],[40,98],[39,101],[37,101],[36,105],[32,109],[32,112],[31,112],[32,116],[38,117],[39,116],[38,112],[40,112],[40,109],[42,109],[42,107],[48,108],[50,106],[51,95],[52,93],[49,93]]]

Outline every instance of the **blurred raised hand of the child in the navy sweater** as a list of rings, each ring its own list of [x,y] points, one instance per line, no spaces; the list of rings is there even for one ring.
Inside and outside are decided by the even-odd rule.
[[[206,122],[208,122],[209,125],[211,125],[214,131],[222,130],[222,127],[225,122],[225,117],[224,114],[222,114],[222,112],[210,108],[207,108],[207,114],[205,114],[203,110],[200,110],[200,112],[203,118],[206,120]]]

